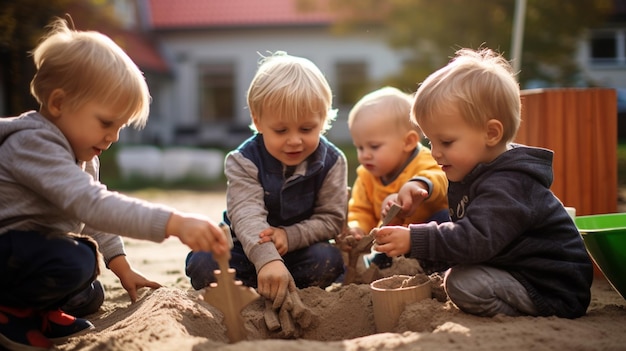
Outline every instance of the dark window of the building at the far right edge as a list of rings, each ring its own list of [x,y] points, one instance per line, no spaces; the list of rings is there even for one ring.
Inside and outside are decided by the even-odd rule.
[[[626,64],[626,31],[599,30],[592,32],[591,63],[596,65]]]

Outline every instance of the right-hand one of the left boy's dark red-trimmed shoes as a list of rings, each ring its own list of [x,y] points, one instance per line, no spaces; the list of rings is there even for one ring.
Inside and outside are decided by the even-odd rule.
[[[94,326],[90,321],[76,318],[61,311],[46,311],[42,314],[42,332],[54,343],[66,341],[69,337],[82,335]]]

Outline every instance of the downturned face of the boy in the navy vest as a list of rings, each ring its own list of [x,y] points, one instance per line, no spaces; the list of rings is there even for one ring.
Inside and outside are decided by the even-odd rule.
[[[296,166],[317,149],[323,117],[309,113],[293,120],[280,118],[273,112],[265,112],[262,118],[253,117],[254,125],[263,134],[263,142],[270,155],[286,166]]]

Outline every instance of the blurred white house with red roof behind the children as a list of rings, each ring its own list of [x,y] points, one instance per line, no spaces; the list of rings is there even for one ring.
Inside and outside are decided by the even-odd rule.
[[[153,97],[150,120],[142,131],[125,130],[123,142],[239,144],[251,135],[246,92],[261,55],[286,51],[310,59],[326,75],[339,110],[328,137],[347,143],[349,109],[402,64],[402,55],[374,30],[334,35],[332,14],[301,11],[297,0],[116,3],[129,22],[140,19],[168,68],[165,75],[146,75]]]

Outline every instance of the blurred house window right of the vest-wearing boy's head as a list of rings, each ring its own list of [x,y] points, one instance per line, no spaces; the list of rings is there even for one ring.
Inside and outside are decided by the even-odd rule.
[[[338,62],[337,104],[354,105],[367,92],[367,64],[363,61]]]

